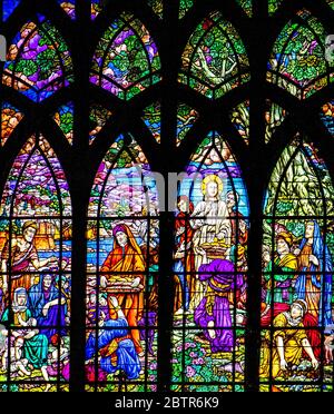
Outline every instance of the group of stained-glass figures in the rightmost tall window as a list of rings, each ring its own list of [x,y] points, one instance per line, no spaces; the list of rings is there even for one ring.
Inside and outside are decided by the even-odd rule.
[[[302,221],[296,237],[276,223],[274,250],[264,246],[261,376],[292,376],[311,362],[313,377],[333,361],[333,259],[317,220]]]

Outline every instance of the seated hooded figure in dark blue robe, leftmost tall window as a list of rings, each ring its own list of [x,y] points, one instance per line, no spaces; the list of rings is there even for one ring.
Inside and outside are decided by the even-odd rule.
[[[40,328],[40,334],[45,334],[49,343],[57,333],[65,336],[66,298],[56,286],[55,276],[41,275],[39,283],[29,289],[28,297],[29,309],[37,319],[37,325],[46,327]]]

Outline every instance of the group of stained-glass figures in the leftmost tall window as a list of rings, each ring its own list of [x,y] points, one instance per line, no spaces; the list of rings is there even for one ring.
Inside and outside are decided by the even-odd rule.
[[[70,278],[56,255],[39,258],[37,229],[26,221],[1,252],[0,368],[2,382],[29,379],[48,391],[69,381]]]

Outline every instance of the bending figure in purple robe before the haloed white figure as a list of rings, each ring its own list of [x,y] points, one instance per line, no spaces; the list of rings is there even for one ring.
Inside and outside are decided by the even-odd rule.
[[[195,323],[204,329],[213,353],[232,352],[234,338],[228,296],[244,287],[244,278],[235,273],[229,260],[215,259],[199,267],[199,280],[206,282],[206,293],[195,310]]]

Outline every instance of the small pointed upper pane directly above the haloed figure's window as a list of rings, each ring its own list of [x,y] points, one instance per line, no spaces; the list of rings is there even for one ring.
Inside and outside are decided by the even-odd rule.
[[[244,43],[219,12],[197,26],[183,55],[179,81],[216,99],[249,80]]]

